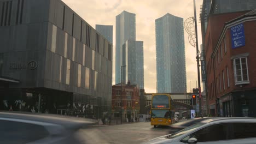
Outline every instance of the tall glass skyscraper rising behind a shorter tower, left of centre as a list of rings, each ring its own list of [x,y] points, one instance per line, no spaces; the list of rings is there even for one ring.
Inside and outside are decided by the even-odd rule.
[[[126,40],[136,40],[135,14],[123,11],[115,17],[115,83],[121,82],[123,44]]]

